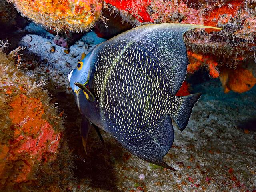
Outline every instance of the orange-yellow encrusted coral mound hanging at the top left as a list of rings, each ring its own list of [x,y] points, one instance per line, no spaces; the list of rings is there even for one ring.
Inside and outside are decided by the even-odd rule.
[[[30,20],[46,28],[74,32],[89,30],[100,17],[98,0],[8,0]]]

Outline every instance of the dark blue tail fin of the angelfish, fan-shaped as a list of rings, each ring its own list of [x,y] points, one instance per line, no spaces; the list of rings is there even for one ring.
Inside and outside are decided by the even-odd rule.
[[[192,109],[201,95],[202,93],[196,93],[180,97],[180,107],[174,114],[171,114],[180,131],[186,128]]]

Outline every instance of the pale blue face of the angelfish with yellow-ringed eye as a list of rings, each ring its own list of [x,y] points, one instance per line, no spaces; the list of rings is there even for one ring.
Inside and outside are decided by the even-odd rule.
[[[89,80],[89,72],[91,68],[91,52],[80,62],[78,62],[76,69],[72,70],[68,74],[68,80],[72,90],[76,93],[80,90],[74,83],[79,82],[86,85]]]

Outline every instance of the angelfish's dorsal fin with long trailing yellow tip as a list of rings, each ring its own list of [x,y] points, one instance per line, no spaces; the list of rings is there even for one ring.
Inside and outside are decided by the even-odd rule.
[[[149,24],[128,30],[110,41],[127,40],[130,45],[139,44],[146,52],[158,58],[158,64],[164,69],[164,75],[168,79],[170,91],[175,95],[186,77],[188,66],[183,35],[188,30],[196,28],[221,29],[193,24]]]

